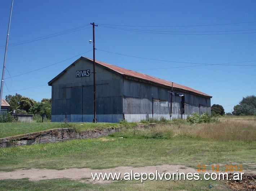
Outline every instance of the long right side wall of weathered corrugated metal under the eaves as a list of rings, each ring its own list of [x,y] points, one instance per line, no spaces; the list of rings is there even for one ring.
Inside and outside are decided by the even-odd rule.
[[[170,118],[171,97],[168,91],[171,90],[125,79],[124,94],[128,95],[124,97],[123,101],[125,118],[131,121],[140,121],[146,119],[147,113],[150,118],[153,117],[158,120],[161,117],[167,119],[186,118],[187,115],[191,115],[193,112],[199,113],[200,110],[202,110],[201,112],[210,111],[210,98],[175,91],[176,93],[183,94],[184,97],[172,97],[172,117]],[[182,113],[182,105],[184,113]]]

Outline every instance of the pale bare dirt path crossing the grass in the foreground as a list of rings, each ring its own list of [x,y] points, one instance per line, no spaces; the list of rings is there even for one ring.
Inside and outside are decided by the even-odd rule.
[[[184,173],[194,173],[197,172],[196,169],[188,168],[182,165],[159,165],[159,166],[146,166],[146,167],[116,167],[110,169],[100,169],[94,170],[90,168],[70,168],[70,169],[63,169],[61,171],[58,170],[51,170],[51,169],[21,169],[12,172],[0,172],[0,180],[3,179],[20,179],[20,178],[29,178],[31,181],[38,181],[38,180],[46,180],[46,179],[53,179],[53,178],[70,178],[72,180],[81,180],[81,178],[86,179],[87,181],[94,182],[94,183],[107,183],[110,181],[103,181],[103,180],[95,180],[92,179],[92,174],[95,173],[121,173],[121,178],[124,177],[124,173],[137,172],[142,173],[145,172],[149,173],[156,173],[156,170],[159,173],[163,172],[184,172]]]

